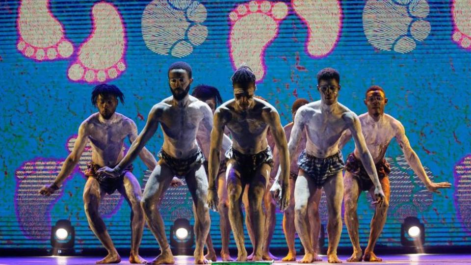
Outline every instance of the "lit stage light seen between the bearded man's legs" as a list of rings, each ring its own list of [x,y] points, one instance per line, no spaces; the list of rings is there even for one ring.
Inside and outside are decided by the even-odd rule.
[[[170,246],[172,252],[177,255],[191,255],[195,235],[190,221],[187,219],[177,219],[170,226]]]

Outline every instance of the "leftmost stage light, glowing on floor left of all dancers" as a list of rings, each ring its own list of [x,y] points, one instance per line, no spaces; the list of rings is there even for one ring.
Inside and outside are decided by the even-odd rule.
[[[73,255],[75,228],[69,220],[58,220],[51,229],[52,255]]]

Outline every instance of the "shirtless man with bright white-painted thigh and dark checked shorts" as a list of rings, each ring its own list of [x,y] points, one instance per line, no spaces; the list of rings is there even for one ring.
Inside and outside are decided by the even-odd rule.
[[[294,158],[299,140],[307,134],[306,149],[298,158],[299,174],[294,186],[294,219],[296,231],[303,244],[305,255],[299,263],[312,263],[316,252],[313,248],[312,231],[308,222],[308,205],[317,208],[321,188],[327,197],[329,220],[327,234],[329,263],[341,263],[337,257],[342,219],[340,217],[343,197],[343,158],[339,141],[341,136],[350,130],[359,148],[360,158],[375,184],[376,202],[382,204],[384,194],[379,183],[371,155],[366,149],[362,128],[358,116],[347,107],[337,102],[340,90],[339,72],[332,68],[324,68],[317,74],[317,90],[320,101],[309,103],[299,108],[294,119],[293,129],[289,138],[288,149],[290,158]],[[278,177],[278,176],[277,176]],[[278,182],[272,187],[273,192],[279,189]],[[317,201],[315,201],[317,200]],[[317,209],[316,209],[317,210]]]

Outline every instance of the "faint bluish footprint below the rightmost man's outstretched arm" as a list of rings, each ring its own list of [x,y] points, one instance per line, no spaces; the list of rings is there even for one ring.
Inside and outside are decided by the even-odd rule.
[[[419,212],[427,211],[433,204],[433,193],[425,188],[404,156],[401,155],[395,159],[386,158],[386,160],[391,164],[389,175],[391,197],[388,210],[390,217],[388,218],[403,220],[407,216],[417,216]],[[433,181],[434,176],[430,169],[425,166],[423,169]],[[366,198],[370,208],[374,209],[371,205],[371,196],[368,194]]]

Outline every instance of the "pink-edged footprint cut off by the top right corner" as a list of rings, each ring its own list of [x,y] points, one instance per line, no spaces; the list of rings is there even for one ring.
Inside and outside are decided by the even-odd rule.
[[[470,49],[471,2],[467,0],[453,0],[451,15],[453,16],[453,35],[451,35],[451,38],[459,46]]]

